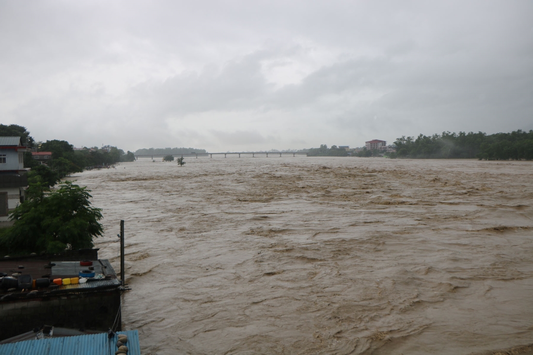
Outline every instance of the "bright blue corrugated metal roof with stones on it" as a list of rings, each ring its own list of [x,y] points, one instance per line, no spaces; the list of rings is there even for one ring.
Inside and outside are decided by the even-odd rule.
[[[137,330],[117,334],[128,337],[128,355],[141,355]],[[0,355],[114,355],[118,349],[117,340],[117,335],[108,338],[107,333],[26,340],[0,345]]]

